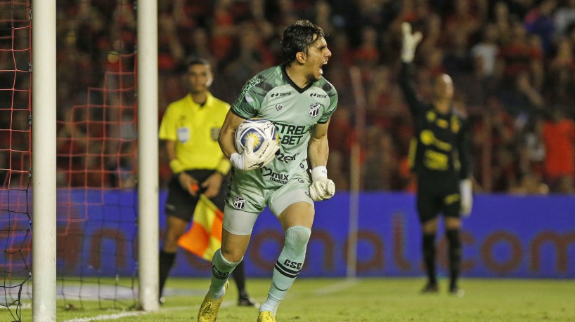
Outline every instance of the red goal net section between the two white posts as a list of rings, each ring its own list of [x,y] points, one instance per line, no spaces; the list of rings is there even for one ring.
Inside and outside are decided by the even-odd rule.
[[[136,305],[135,55],[110,53],[99,88],[58,120],[58,294],[69,309]]]

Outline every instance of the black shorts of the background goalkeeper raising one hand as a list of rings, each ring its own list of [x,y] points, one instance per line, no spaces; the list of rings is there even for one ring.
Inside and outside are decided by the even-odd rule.
[[[443,213],[445,217],[460,217],[461,195],[456,175],[418,175],[418,214],[427,222]]]

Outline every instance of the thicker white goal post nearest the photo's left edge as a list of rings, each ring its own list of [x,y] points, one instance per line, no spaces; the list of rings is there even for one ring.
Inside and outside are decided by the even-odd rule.
[[[33,6],[32,321],[40,322],[56,321],[56,0]]]

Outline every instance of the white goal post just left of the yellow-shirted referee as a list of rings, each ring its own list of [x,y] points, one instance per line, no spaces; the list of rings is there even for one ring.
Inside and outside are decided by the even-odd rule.
[[[138,65],[138,297],[159,309],[159,182],[157,139],[157,1],[137,2]]]

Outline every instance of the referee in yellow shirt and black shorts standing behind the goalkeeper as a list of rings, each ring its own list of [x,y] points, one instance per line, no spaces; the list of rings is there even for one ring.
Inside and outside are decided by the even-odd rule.
[[[217,141],[230,105],[209,93],[213,74],[207,60],[189,60],[186,73],[188,95],[167,107],[160,124],[159,136],[165,141],[173,173],[165,206],[167,230],[160,250],[160,303],[164,283],[176,258],[178,239],[192,220],[199,194],[224,209],[223,185],[231,168]],[[246,293],[245,271],[243,265],[240,266],[233,272],[238,285],[238,305],[254,306]]]

